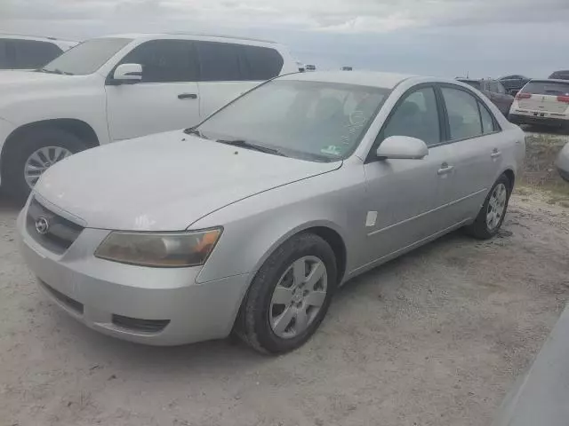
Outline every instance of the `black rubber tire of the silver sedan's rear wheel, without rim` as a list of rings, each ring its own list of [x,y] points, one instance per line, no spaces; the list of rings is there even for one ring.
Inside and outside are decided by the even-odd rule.
[[[474,223],[465,227],[466,233],[470,236],[477,238],[478,240],[489,240],[493,238],[496,233],[500,231],[501,225],[504,222],[504,217],[506,217],[506,212],[508,210],[508,201],[509,196],[511,195],[512,187],[509,178],[506,175],[501,175],[501,177],[496,180],[492,189],[486,196],[484,204],[482,208],[478,212],[478,216]],[[489,206],[491,203],[494,202],[495,198],[494,195],[498,193],[501,188],[505,191],[505,200],[503,201],[503,210],[499,217],[497,216],[496,212],[499,212],[500,208],[493,209],[494,211],[494,219],[491,220],[491,224],[488,223],[488,215],[490,215]],[[500,203],[499,203],[500,205]]]

